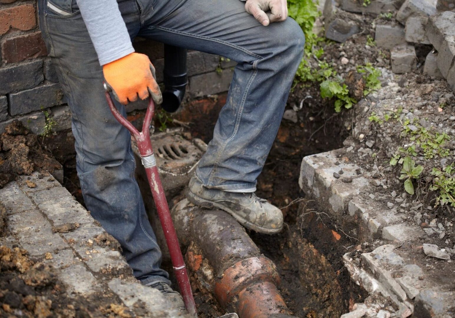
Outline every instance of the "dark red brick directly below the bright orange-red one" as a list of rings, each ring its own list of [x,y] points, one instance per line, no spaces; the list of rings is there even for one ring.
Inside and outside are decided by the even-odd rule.
[[[45,56],[47,50],[41,32],[35,32],[5,40],[1,45],[1,53],[3,61],[14,63],[29,57]]]

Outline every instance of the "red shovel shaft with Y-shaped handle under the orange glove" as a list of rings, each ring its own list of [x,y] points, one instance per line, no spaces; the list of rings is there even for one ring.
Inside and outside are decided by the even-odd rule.
[[[183,261],[182,251],[177,239],[174,225],[172,223],[171,213],[167,206],[166,196],[161,184],[161,179],[158,173],[157,163],[153,154],[152,142],[150,141],[150,124],[152,123],[153,113],[155,111],[155,104],[152,97],[150,97],[145,114],[144,123],[142,124],[142,131],[139,132],[125,117],[123,117],[117,110],[111,95],[106,90],[106,100],[111,109],[112,115],[131,133],[131,136],[136,140],[137,148],[141,154],[142,165],[147,173],[148,183],[150,190],[152,190],[153,200],[157,206],[158,216],[160,217],[161,226],[163,228],[164,237],[166,238],[169,254],[171,255],[172,267],[174,268],[177,277],[178,287],[182,293],[183,302],[187,308],[188,313],[196,316],[196,304],[191,292],[190,280],[188,278],[185,262]]]

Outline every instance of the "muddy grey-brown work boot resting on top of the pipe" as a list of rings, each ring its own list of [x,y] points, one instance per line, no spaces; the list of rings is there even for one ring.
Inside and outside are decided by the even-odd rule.
[[[244,227],[265,234],[275,234],[283,228],[283,213],[253,192],[237,193],[204,187],[198,177],[188,184],[190,202],[209,209],[220,209],[231,214]]]

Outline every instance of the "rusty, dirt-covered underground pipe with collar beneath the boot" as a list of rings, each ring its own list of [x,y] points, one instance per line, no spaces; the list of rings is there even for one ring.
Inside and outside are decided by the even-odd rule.
[[[171,213],[179,241],[185,246],[191,243],[188,265],[210,277],[203,285],[224,308],[240,318],[293,317],[278,291],[275,264],[233,217],[196,207],[186,199]]]

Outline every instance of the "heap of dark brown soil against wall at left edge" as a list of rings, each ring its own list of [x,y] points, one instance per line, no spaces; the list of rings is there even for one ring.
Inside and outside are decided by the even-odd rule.
[[[34,171],[52,173],[61,168],[60,163],[43,150],[38,136],[30,133],[18,120],[5,127],[0,146],[0,188],[21,174],[30,175]]]

